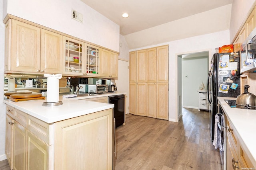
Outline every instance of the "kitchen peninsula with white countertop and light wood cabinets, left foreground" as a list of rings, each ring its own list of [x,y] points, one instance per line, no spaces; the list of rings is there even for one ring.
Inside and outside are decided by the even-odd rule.
[[[4,100],[10,168],[112,169],[114,105],[60,99],[60,106]]]

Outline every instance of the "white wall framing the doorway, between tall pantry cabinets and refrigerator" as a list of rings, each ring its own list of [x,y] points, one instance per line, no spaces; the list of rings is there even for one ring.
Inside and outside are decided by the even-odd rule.
[[[177,56],[209,51],[209,61],[215,48],[229,44],[229,30],[168,42],[169,44],[169,121],[178,121],[177,115]]]

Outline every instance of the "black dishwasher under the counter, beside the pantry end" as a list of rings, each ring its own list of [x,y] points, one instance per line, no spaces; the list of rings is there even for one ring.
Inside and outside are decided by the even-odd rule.
[[[124,95],[108,97],[108,103],[114,104],[114,118],[116,119],[116,127],[124,123]]]

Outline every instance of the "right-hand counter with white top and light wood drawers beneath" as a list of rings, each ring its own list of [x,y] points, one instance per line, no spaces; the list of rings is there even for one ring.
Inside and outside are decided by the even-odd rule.
[[[240,168],[246,168],[248,166],[248,168],[255,169],[256,110],[232,108],[225,100],[236,100],[236,98],[218,97],[218,102],[227,117],[227,137],[230,137],[227,141],[227,155],[228,142],[230,140],[232,141],[232,137],[234,138],[234,142],[231,142],[230,146],[234,148],[231,148],[231,150],[233,152],[237,151],[237,155],[232,153],[233,156],[230,159],[227,158],[227,166],[228,164],[233,164],[235,166],[239,165]],[[229,136],[228,133],[232,135]],[[235,158],[236,156],[238,160]],[[232,158],[234,158],[234,161]]]

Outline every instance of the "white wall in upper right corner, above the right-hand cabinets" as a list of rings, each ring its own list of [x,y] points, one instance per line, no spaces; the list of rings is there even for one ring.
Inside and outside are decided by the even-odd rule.
[[[255,6],[256,0],[233,0],[230,18],[230,42]]]

